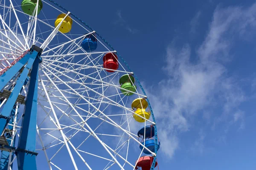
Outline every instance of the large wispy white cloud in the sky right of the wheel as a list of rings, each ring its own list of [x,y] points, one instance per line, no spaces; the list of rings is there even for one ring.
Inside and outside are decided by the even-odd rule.
[[[256,27],[255,16],[256,4],[249,8],[217,7],[205,40],[195,49],[196,56],[192,56],[189,44],[180,47],[173,41],[166,48],[166,65],[163,67],[166,78],[148,88],[147,92],[158,122],[161,147],[172,147],[171,151],[162,149],[160,153],[172,158],[179,147],[179,134],[195,126],[190,122],[195,115],[214,120],[213,126],[241,121],[238,128],[244,127],[244,112],[240,111],[239,105],[247,97],[239,79],[228,74],[226,64],[233,59],[230,49],[233,47],[234,34],[240,41],[254,35],[246,30]],[[200,13],[191,23],[196,25],[198,17]],[[191,62],[191,57],[196,60]],[[217,108],[220,113],[211,115],[212,110]],[[194,147],[204,147],[202,142],[207,136],[203,133],[200,136]],[[225,136],[219,137],[225,139]]]

